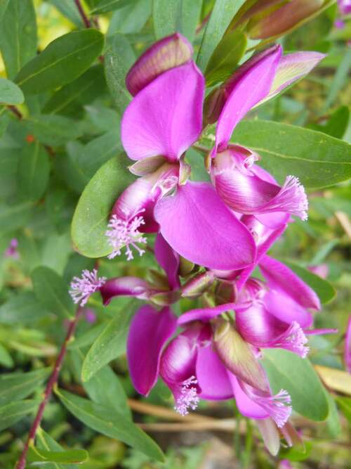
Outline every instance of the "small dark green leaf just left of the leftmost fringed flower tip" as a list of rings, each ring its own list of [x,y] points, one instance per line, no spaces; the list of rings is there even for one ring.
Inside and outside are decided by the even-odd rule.
[[[48,267],[39,266],[32,271],[34,293],[44,307],[62,318],[71,318],[74,304],[62,277]]]

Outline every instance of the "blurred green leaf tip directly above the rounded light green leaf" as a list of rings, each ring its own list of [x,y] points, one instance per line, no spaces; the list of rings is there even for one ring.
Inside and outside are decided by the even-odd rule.
[[[105,162],[112,157],[117,158],[117,155],[123,151],[117,125],[118,121],[115,130],[90,141],[79,153],[78,166],[87,179],[91,179]]]

